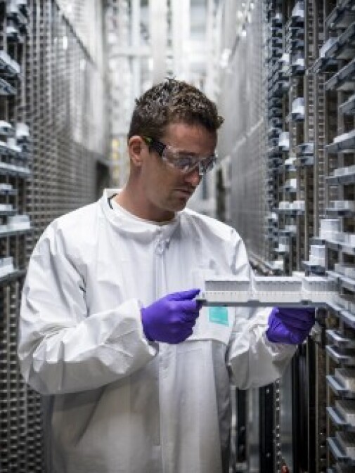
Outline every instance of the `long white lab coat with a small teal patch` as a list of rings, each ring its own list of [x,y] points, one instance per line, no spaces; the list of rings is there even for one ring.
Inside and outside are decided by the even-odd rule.
[[[268,309],[202,309],[181,344],[148,342],[141,306],[206,277],[250,277],[243,241],[185,209],[159,226],[98,202],[56,219],[22,292],[25,380],[51,395],[51,473],[228,471],[230,382],[273,382],[295,347],[271,344]]]

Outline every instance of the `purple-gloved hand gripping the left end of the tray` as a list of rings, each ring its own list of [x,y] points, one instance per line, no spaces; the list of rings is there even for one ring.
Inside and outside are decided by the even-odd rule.
[[[148,340],[180,343],[190,337],[201,309],[200,302],[193,300],[199,292],[191,289],[167,294],[141,309],[143,332]]]

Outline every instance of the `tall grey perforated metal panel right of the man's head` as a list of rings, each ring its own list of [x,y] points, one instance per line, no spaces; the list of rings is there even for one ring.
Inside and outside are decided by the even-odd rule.
[[[262,4],[254,2],[250,22],[235,36],[241,2],[226,2],[222,50],[229,60],[222,71],[219,109],[226,119],[219,138],[221,159],[230,157],[231,223],[250,253],[264,257],[268,243],[260,231],[266,216],[266,122]]]

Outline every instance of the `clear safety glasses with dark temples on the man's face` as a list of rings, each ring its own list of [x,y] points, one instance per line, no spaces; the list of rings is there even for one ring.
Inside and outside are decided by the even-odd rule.
[[[213,169],[217,161],[215,153],[207,157],[198,157],[191,155],[188,151],[176,150],[176,148],[165,145],[161,141],[157,141],[149,136],[143,136],[142,138],[150,149],[155,150],[160,155],[164,162],[169,164],[169,166],[179,169],[183,174],[190,174],[195,169],[198,169],[199,176],[204,176]]]

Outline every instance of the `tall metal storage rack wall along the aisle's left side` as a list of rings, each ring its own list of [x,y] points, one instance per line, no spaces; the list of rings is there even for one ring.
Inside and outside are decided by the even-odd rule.
[[[98,3],[70,3],[68,18],[63,1],[0,1],[0,469],[4,473],[46,471],[41,399],[23,382],[16,355],[28,258],[51,220],[96,199],[97,164],[106,162],[101,30],[91,27],[89,40],[85,20],[92,26],[95,18],[81,16],[86,7]]]

